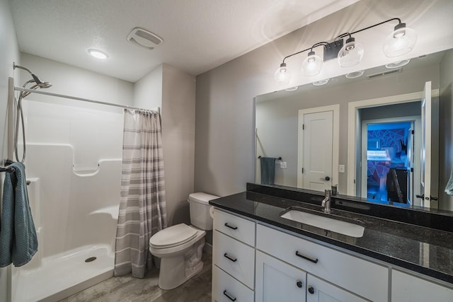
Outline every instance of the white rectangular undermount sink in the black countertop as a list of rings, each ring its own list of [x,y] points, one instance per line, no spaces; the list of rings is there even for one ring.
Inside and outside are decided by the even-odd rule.
[[[312,214],[293,207],[283,211],[280,217],[355,238],[362,237],[365,232],[365,227],[358,224],[358,221],[357,223],[348,222],[342,217],[337,219],[330,214]]]

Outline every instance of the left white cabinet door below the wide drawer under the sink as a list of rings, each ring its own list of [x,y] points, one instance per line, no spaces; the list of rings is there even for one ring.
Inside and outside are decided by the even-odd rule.
[[[306,272],[256,251],[256,302],[304,302]]]

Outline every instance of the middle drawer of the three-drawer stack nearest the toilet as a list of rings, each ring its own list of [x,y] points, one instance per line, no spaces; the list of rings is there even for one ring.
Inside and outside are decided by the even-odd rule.
[[[253,289],[255,249],[219,231],[214,231],[212,262]]]

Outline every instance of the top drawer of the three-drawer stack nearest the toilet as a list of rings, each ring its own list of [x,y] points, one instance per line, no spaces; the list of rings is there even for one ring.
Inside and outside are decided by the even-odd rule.
[[[253,221],[214,209],[214,229],[243,243],[255,246],[255,223]]]

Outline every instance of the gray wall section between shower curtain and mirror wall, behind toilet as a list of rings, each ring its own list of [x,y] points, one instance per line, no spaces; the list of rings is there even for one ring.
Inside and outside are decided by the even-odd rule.
[[[195,76],[162,64],[134,83],[134,105],[161,108],[168,226],[190,223],[195,164]]]

